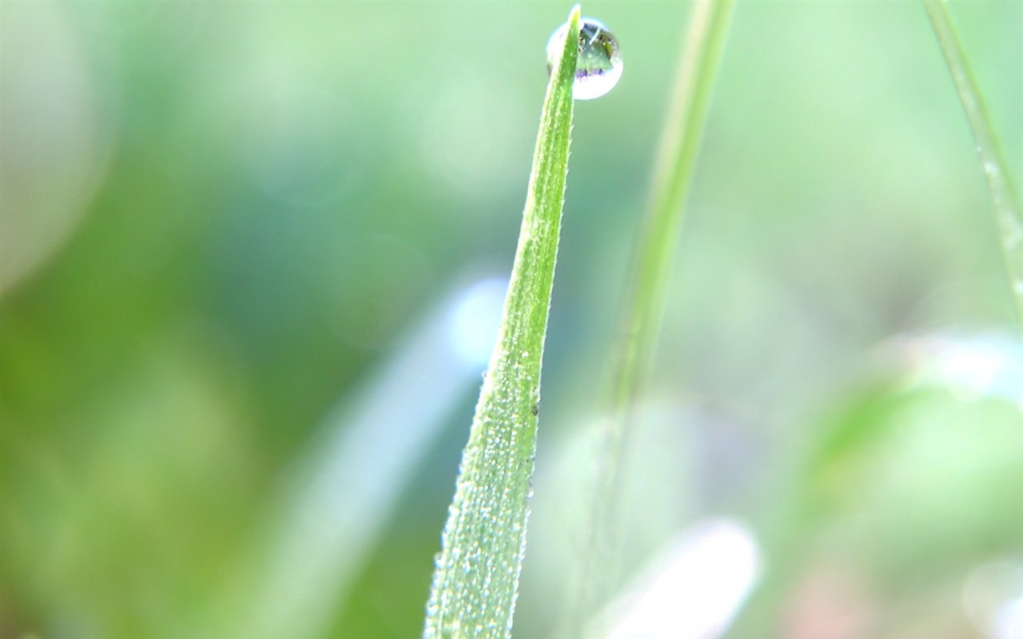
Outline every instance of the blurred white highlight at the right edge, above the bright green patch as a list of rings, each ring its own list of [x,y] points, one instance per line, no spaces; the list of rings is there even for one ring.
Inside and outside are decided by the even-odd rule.
[[[999,397],[1023,405],[1023,340],[1009,332],[899,335],[885,354],[915,385],[937,385],[964,400]]]

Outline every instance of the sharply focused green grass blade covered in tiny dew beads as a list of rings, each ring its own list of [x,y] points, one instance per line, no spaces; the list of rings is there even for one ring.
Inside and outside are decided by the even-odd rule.
[[[579,33],[579,5],[569,15]],[[572,129],[578,38],[565,39],[540,117],[500,334],[462,453],[424,636],[508,637],[525,552],[547,330]]]

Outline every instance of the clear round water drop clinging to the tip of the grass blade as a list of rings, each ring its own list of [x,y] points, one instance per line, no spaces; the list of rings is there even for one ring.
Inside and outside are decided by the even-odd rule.
[[[547,41],[547,74],[565,44],[568,22]],[[622,58],[618,55],[618,40],[604,22],[584,17],[579,22],[579,62],[572,94],[577,100],[592,100],[615,88],[622,77]]]

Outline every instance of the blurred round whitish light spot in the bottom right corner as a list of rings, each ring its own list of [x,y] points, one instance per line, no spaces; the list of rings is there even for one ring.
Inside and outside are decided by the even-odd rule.
[[[1002,559],[975,568],[963,586],[963,609],[988,639],[1023,639],[1023,563]]]

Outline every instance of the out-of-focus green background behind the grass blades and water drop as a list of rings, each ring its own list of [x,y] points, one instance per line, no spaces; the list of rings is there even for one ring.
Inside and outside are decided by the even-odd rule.
[[[418,634],[483,369],[445,364],[444,322],[509,269],[569,8],[0,4],[0,637]],[[576,105],[517,636],[578,586],[690,10],[583,5],[625,73]],[[1019,185],[1023,3],[951,12]],[[990,208],[922,5],[738,4],[623,579],[726,515],[761,557],[742,636],[1023,636],[997,621],[1023,610],[1023,346]]]

